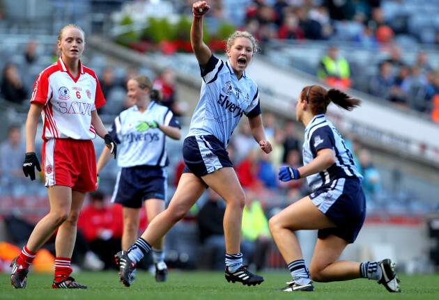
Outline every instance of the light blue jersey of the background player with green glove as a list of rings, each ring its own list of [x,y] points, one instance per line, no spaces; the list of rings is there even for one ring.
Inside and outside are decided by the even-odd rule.
[[[151,121],[180,128],[172,111],[155,101],[151,101],[143,113],[133,105],[114,120],[108,133],[118,144],[117,164],[120,168],[168,165],[166,135],[158,128],[144,130],[137,126]]]

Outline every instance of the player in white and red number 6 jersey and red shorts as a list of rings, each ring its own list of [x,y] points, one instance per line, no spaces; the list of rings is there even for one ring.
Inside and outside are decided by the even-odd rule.
[[[116,158],[116,143],[108,134],[96,109],[105,104],[95,73],[79,61],[85,34],[76,24],[59,31],[59,61],[43,70],[33,86],[26,120],[24,175],[35,180],[41,171],[35,154],[38,120],[43,115],[43,168],[50,212],[36,225],[20,256],[11,263],[11,284],[26,287],[26,277],[36,252],[56,230],[53,288],[87,288],[70,276],[76,224],[86,192],[96,189],[96,135]]]

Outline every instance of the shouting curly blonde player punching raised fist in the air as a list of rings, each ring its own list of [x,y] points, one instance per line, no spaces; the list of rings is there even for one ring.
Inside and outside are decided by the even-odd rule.
[[[226,279],[245,285],[261,283],[263,277],[252,274],[242,265],[240,232],[245,194],[226,151],[230,136],[242,116],[247,116],[252,134],[261,150],[271,152],[265,140],[259,106],[259,90],[245,69],[256,52],[256,42],[247,32],[236,31],[227,40],[228,61],[213,56],[203,42],[203,15],[209,10],[206,1],[192,6],[194,18],[191,42],[200,65],[203,85],[194,111],[189,134],[183,143],[185,169],[167,210],[159,214],[137,242],[116,255],[121,279],[130,284],[132,269],[174,224],[189,212],[207,187],[226,201],[224,235],[226,239]]]

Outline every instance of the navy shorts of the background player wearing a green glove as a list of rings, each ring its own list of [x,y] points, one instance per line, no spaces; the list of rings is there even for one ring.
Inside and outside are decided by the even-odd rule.
[[[123,207],[140,208],[144,200],[166,200],[167,171],[162,167],[133,166],[121,168],[116,178],[111,202]]]

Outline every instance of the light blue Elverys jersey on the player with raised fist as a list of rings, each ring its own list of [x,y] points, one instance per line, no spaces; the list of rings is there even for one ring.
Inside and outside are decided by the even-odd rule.
[[[215,56],[210,57],[205,69],[201,68],[201,77],[200,100],[187,136],[213,135],[226,148],[244,114],[261,114],[258,86],[245,72],[238,80],[229,61],[224,63]]]

